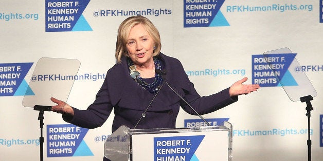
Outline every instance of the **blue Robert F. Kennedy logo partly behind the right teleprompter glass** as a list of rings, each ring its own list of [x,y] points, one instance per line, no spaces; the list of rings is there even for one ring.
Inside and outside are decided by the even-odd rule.
[[[294,77],[288,70],[296,54],[252,55],[253,84],[261,87],[297,86]],[[279,83],[280,82],[280,83]]]

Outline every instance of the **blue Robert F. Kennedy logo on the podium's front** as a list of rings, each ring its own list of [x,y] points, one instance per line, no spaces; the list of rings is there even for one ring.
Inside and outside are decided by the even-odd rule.
[[[204,135],[154,137],[154,161],[199,160],[194,154]]]

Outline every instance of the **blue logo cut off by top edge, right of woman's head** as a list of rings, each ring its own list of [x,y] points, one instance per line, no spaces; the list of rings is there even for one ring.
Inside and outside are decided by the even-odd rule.
[[[225,0],[184,0],[184,27],[230,26],[220,11]]]

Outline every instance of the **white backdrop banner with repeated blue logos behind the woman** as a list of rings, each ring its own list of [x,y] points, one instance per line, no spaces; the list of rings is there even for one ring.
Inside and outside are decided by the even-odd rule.
[[[30,83],[72,79],[67,103],[86,109],[116,62],[118,26],[133,15],[151,19],[161,35],[161,52],[180,59],[200,95],[243,77],[246,84],[260,84],[237,103],[203,115],[212,126],[233,125],[234,160],[307,160],[308,136],[312,160],[322,160],[322,12],[322,1],[314,0],[1,1],[0,160],[39,160],[39,111],[23,105],[24,97],[37,93]],[[68,78],[35,76],[41,58],[74,59],[80,66]],[[313,93],[310,129],[307,104],[291,98],[306,94],[308,86],[286,88],[302,87],[303,79]],[[84,129],[45,111],[44,160],[102,160],[112,120],[113,114],[102,127]],[[176,127],[196,126],[206,123],[181,110]]]

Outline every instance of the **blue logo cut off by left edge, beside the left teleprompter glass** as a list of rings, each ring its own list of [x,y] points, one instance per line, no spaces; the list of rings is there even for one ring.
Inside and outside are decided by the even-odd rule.
[[[0,64],[0,96],[34,95],[24,79],[32,64]]]

